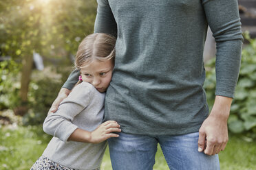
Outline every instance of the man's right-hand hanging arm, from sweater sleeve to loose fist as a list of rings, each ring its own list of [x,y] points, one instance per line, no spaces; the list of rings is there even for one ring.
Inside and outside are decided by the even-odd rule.
[[[202,0],[216,41],[215,103],[199,130],[198,151],[218,154],[228,142],[227,120],[237,84],[242,52],[242,29],[237,0]]]

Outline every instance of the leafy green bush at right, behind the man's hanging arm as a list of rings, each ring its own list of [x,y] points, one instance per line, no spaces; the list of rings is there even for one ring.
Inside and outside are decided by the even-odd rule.
[[[256,133],[256,39],[245,38],[250,42],[242,50],[242,63],[235,90],[235,99],[231,106],[228,129],[234,133]],[[206,66],[213,68],[214,60]],[[215,69],[206,73],[206,89],[209,105],[213,105],[215,95]],[[252,133],[250,133],[252,135]]]

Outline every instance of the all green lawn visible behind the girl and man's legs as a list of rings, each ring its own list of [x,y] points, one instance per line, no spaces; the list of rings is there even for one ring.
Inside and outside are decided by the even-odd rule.
[[[51,136],[45,134],[41,125],[37,126],[0,126],[0,169],[25,170],[41,156]],[[256,143],[246,142],[242,137],[230,136],[230,141],[220,153],[221,169],[256,169]],[[101,169],[110,170],[111,162],[107,149]],[[162,151],[158,147],[156,170],[168,169]]]

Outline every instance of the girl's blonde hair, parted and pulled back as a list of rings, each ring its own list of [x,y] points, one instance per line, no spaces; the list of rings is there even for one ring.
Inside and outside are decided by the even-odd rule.
[[[74,65],[77,69],[83,68],[94,60],[101,62],[113,60],[116,56],[116,38],[109,34],[95,33],[86,36],[80,43],[76,52]],[[77,84],[82,81],[78,80]],[[76,86],[75,85],[75,86]]]

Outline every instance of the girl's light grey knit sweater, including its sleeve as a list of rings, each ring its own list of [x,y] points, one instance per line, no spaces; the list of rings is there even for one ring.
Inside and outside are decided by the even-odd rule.
[[[61,102],[55,113],[49,112],[43,130],[54,137],[43,155],[73,169],[99,169],[106,142],[92,144],[67,141],[81,128],[92,132],[103,121],[105,93],[99,93],[92,84],[78,84]]]

